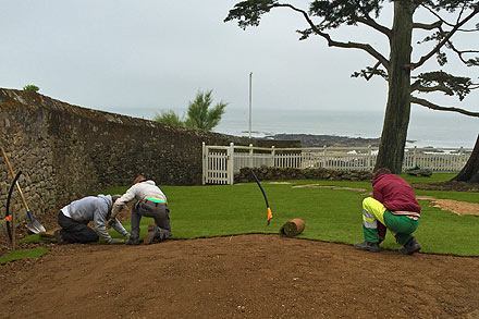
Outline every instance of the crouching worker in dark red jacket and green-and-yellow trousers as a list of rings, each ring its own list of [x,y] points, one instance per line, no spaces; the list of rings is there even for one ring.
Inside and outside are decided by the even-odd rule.
[[[413,187],[389,169],[374,171],[372,197],[363,200],[363,230],[365,242],[354,247],[360,250],[380,251],[386,228],[403,247],[402,254],[413,255],[421,246],[414,232],[419,225],[421,207],[416,200]]]

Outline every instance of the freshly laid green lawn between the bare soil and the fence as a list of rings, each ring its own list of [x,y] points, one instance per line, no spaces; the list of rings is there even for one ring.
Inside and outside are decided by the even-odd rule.
[[[447,181],[454,174],[433,174],[431,177],[402,175],[408,182]],[[354,244],[363,241],[361,200],[371,192],[369,182],[288,181],[292,184],[262,182],[273,219],[267,225],[267,209],[256,183],[222,186],[161,186],[171,210],[173,238],[224,236],[245,233],[278,233],[281,225],[294,218],[305,221],[298,236]],[[293,188],[292,185],[319,184],[339,187],[366,188],[366,192],[326,187]],[[126,187],[107,189],[105,194],[122,194]],[[417,195],[479,203],[477,193],[418,191]],[[416,236],[422,253],[479,256],[479,217],[456,216],[449,211],[422,207],[421,222]],[[152,219],[142,220],[142,236]],[[124,223],[130,230],[130,220]],[[111,231],[113,236],[114,231]],[[388,234],[383,247],[397,249],[400,245]]]

